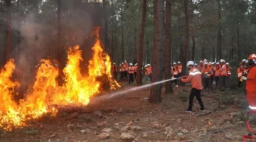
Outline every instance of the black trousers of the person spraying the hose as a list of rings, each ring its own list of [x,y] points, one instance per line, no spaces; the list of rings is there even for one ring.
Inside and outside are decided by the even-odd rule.
[[[201,89],[196,89],[196,88],[192,88],[191,89],[191,94],[189,96],[189,106],[188,109],[192,110],[193,107],[193,98],[196,96],[196,99],[198,100],[201,109],[204,109],[203,107],[203,101],[201,99]]]

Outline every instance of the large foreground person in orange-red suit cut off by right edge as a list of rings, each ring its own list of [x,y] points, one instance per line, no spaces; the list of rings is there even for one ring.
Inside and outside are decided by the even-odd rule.
[[[247,102],[249,108],[256,110],[256,54],[251,54],[248,58],[248,65],[250,70],[247,77],[242,76],[242,80],[246,80],[246,90],[247,90]]]

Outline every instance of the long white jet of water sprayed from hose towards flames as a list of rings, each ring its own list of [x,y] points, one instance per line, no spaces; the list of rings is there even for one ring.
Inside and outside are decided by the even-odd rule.
[[[181,80],[181,78],[182,77],[172,78],[172,79],[169,79],[169,80],[162,80],[162,81],[159,81],[159,82],[144,84],[144,85],[139,86],[139,87],[133,87],[131,89],[125,89],[125,90],[117,91],[117,92],[114,92],[114,93],[108,93],[108,94],[105,94],[105,95],[102,95],[100,97],[95,98],[94,101],[96,99],[112,99],[112,98],[120,96],[122,94],[127,94],[129,92],[134,92],[134,91],[137,91],[137,90],[140,90],[140,89],[145,89],[147,87],[151,87],[151,86],[154,86],[156,84],[161,84],[161,83],[169,82],[169,81],[173,81],[173,80]]]

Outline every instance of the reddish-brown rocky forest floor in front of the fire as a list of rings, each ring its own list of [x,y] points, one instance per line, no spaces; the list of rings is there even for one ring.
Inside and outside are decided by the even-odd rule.
[[[122,86],[121,89],[134,87],[127,82]],[[0,141],[242,141],[242,135],[248,133],[241,113],[245,92],[213,92],[221,103],[212,113],[210,110],[218,107],[216,99],[203,97],[206,112],[199,112],[195,98],[193,113],[186,114],[183,110],[188,107],[190,89],[188,86],[174,87],[174,94],[164,94],[163,91],[159,104],[147,102],[150,89],[92,101],[83,108],[63,109],[55,117],[44,116],[30,122],[27,128],[0,131]]]

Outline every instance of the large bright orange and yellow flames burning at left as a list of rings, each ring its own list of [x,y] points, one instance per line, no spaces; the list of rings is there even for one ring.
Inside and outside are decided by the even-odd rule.
[[[89,61],[87,75],[80,72],[82,50],[79,46],[69,48],[68,62],[63,69],[64,84],[60,86],[57,82],[60,72],[58,67],[50,60],[42,59],[33,91],[26,94],[26,98],[19,100],[18,103],[14,101],[14,89],[20,87],[20,84],[11,80],[15,65],[14,60],[9,60],[0,72],[0,127],[11,131],[26,126],[27,120],[40,118],[47,113],[55,115],[58,112],[57,105],[89,104],[90,99],[99,94],[102,87],[97,77],[107,75],[110,89],[120,87],[117,81],[112,79],[110,56],[103,53],[99,28],[95,35],[96,41],[92,47],[93,55]]]

